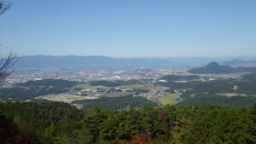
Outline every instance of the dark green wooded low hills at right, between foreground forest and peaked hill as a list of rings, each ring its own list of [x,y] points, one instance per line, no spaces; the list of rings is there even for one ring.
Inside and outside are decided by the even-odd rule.
[[[256,102],[255,74],[243,75],[240,79],[158,83],[169,90],[183,91],[178,106],[212,104],[225,107],[252,107]]]

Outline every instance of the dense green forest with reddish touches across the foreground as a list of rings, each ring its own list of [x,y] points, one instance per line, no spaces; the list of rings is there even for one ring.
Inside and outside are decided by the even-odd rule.
[[[84,113],[65,103],[0,103],[0,143],[255,143],[256,104]]]

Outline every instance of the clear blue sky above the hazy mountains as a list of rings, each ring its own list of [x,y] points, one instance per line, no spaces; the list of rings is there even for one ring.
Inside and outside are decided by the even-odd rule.
[[[0,53],[113,57],[256,55],[255,0],[12,0]]]

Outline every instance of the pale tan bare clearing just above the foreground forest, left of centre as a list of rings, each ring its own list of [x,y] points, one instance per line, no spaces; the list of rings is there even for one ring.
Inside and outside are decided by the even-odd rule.
[[[44,99],[48,101],[62,101],[71,103],[73,101],[81,101],[81,100],[90,100],[90,99],[96,99],[97,97],[92,96],[79,96],[79,95],[67,95],[67,94],[58,94],[58,95],[44,95],[44,96],[38,96],[36,99]]]

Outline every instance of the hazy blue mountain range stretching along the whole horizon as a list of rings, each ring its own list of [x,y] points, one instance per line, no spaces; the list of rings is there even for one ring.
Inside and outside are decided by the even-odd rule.
[[[228,58],[111,58],[106,56],[50,56],[32,55],[20,57],[16,68],[42,69],[42,68],[111,68],[111,67],[137,67],[137,66],[203,66],[211,61],[226,61],[221,64],[236,65],[247,63],[242,60]],[[252,61],[251,61],[252,63]],[[255,60],[256,64],[256,60]]]

